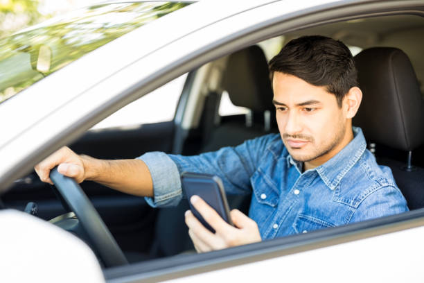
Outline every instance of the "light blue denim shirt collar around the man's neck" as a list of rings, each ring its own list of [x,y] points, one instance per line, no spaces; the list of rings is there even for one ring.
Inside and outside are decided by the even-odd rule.
[[[337,187],[344,175],[351,170],[366,149],[366,141],[362,130],[357,127],[352,127],[352,130],[353,139],[347,146],[342,148],[339,153],[331,157],[331,159],[324,164],[312,169],[312,171],[317,171],[323,182],[331,190]],[[303,162],[294,160],[290,154],[288,155],[287,162],[289,166],[290,164],[296,166],[299,173],[302,172]]]

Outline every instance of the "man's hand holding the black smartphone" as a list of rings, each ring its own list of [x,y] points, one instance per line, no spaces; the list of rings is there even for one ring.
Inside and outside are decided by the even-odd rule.
[[[218,212],[199,196],[192,196],[191,203],[203,216],[204,220],[215,230],[215,234],[204,228],[190,210],[186,211],[188,234],[197,252],[209,252],[247,243],[261,241],[258,225],[238,209],[231,210],[230,216],[236,228],[229,225]]]

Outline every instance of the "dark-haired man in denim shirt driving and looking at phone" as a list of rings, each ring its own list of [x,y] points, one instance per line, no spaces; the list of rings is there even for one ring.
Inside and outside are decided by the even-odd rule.
[[[328,37],[300,37],[270,61],[270,71],[280,135],[190,157],[146,153],[107,161],[62,148],[35,170],[51,182],[48,172],[60,164],[60,173],[77,182],[94,180],[147,196],[153,206],[179,202],[183,171],[218,175],[229,194],[253,191],[249,217],[231,211],[236,227],[199,197],[191,198],[216,231],[186,212],[200,252],[407,211],[390,169],[378,166],[362,131],[352,127],[362,92],[347,47]]]

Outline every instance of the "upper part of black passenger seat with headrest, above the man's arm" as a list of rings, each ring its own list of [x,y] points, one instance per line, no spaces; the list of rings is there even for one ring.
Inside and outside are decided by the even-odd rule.
[[[229,55],[221,88],[228,92],[233,105],[251,110],[251,116],[247,117],[251,121],[222,119],[210,130],[200,153],[237,146],[246,139],[276,129],[267,59],[259,46],[249,46]]]

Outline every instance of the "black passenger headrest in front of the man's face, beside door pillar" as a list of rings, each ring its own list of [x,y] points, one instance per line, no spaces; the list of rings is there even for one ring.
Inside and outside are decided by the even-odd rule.
[[[259,46],[229,55],[222,87],[234,105],[254,112],[273,110],[272,87],[267,59]]]

